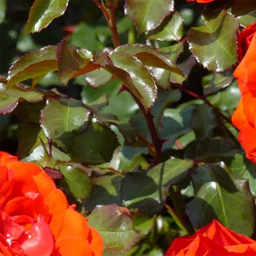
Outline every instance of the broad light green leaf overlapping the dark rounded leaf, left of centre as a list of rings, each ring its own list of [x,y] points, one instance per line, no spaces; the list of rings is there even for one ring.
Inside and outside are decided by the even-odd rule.
[[[86,129],[89,113],[81,101],[52,99],[43,108],[40,123],[47,138],[66,148],[73,143],[69,132]]]

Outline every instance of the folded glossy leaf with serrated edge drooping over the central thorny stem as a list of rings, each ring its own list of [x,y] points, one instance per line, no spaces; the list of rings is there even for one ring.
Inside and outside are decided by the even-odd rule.
[[[155,102],[157,89],[152,75],[143,63],[123,52],[111,54],[110,61],[112,65],[109,63],[104,69],[125,84],[145,108],[150,108]]]

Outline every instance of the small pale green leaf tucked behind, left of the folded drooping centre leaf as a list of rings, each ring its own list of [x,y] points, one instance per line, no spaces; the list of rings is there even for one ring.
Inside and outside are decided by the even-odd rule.
[[[86,82],[94,88],[106,84],[112,77],[112,75],[103,68],[88,72],[84,76]]]

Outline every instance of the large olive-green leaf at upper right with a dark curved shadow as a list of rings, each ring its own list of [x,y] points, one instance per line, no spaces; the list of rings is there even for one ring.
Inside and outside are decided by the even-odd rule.
[[[190,51],[210,71],[229,69],[238,61],[235,36],[238,26],[238,21],[223,9],[204,26],[190,28]]]

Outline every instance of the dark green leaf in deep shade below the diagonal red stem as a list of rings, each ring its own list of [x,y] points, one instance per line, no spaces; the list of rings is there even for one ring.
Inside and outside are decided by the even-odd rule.
[[[194,130],[198,139],[204,137],[211,138],[213,136],[213,130],[217,126],[219,126],[219,121],[212,107],[206,104],[195,107],[191,119],[191,128]]]

